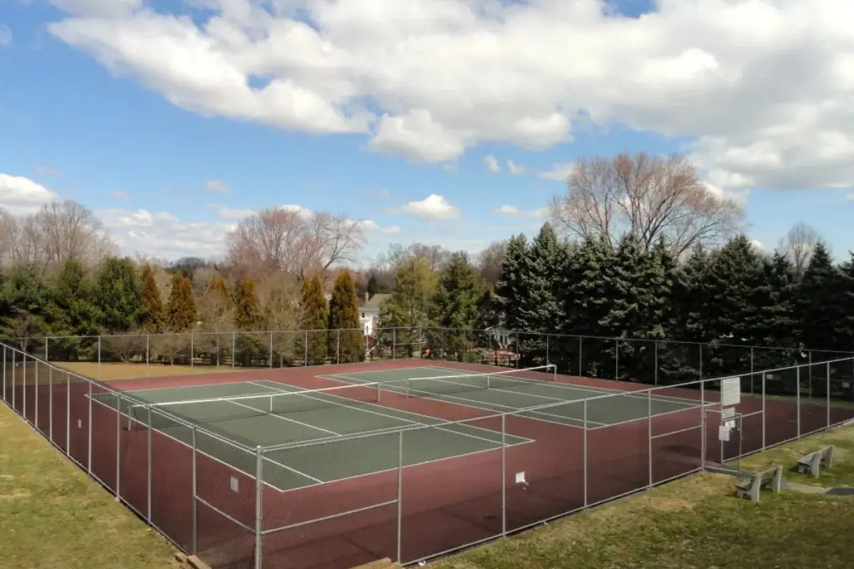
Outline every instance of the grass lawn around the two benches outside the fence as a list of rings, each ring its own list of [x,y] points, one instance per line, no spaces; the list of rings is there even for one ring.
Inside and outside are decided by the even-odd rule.
[[[836,444],[833,473],[785,479],[854,486],[854,427],[814,435],[742,462],[793,466]],[[834,459],[836,460],[836,459]],[[701,473],[432,564],[433,569],[804,569],[854,566],[854,497],[763,492],[734,497],[735,479]]]

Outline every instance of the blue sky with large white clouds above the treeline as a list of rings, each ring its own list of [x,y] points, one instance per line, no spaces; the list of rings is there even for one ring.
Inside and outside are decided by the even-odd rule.
[[[371,220],[366,258],[474,252],[534,232],[573,160],[679,151],[746,200],[752,239],[803,221],[844,255],[851,8],[818,4],[6,0],[0,206],[78,200],[166,258],[277,205]]]

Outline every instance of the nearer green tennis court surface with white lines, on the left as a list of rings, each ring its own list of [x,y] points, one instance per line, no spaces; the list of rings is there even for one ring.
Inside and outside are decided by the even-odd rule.
[[[376,393],[363,387],[349,390],[348,396],[288,395],[296,391],[304,390],[276,381],[246,381],[122,392],[121,402],[111,392],[93,398],[111,409],[122,409],[133,429],[144,430],[150,422],[155,430],[184,444],[193,444],[188,423],[195,424],[203,429],[196,430],[196,450],[251,476],[257,456],[245,447],[286,445],[262,452],[261,478],[279,491],[501,448],[500,431],[447,424],[360,400]],[[188,403],[210,398],[238,399]],[[146,404],[155,404],[150,418],[149,407],[140,406]],[[508,446],[531,442],[512,436],[504,440]]]

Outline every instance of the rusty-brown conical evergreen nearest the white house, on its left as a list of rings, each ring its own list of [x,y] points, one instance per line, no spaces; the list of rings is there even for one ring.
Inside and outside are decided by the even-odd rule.
[[[359,299],[350,271],[335,280],[329,303],[330,357],[332,362],[359,362],[365,357],[365,335],[359,322]]]

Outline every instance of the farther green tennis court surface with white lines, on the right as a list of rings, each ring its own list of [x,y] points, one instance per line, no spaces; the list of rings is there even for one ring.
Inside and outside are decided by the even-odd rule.
[[[602,387],[579,386],[550,379],[550,374],[525,369],[477,374],[442,366],[327,374],[322,377],[350,384],[380,382],[382,392],[410,393],[447,403],[512,413],[517,409],[548,406],[521,411],[518,415],[567,425],[584,427],[587,402],[587,428],[609,427],[645,419],[647,415],[668,415],[686,409],[698,409],[696,399],[676,398],[646,392],[633,393]],[[607,396],[607,397],[602,397]],[[707,404],[714,405],[714,404]]]

